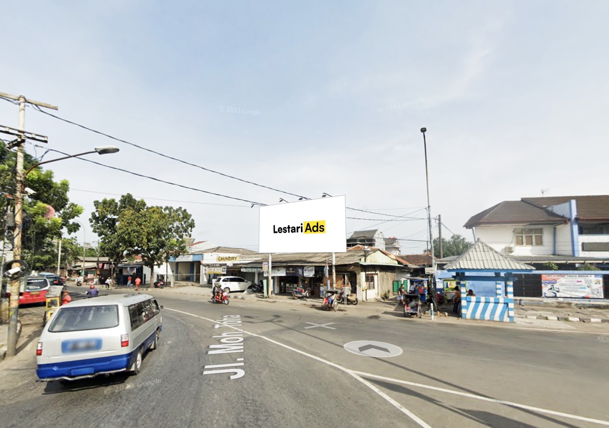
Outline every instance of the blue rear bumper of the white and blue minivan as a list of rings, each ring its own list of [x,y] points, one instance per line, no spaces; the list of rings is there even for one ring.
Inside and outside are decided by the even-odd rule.
[[[41,381],[85,379],[99,374],[126,371],[132,363],[132,357],[133,352],[110,357],[38,364],[36,374]]]

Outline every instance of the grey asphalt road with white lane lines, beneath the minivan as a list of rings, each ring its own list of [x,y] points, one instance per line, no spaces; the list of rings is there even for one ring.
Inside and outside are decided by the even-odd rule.
[[[2,425],[511,428],[609,421],[606,329],[524,331],[234,299],[229,306],[158,299],[165,306],[160,347],[138,376],[43,384],[34,382],[30,357],[24,382],[2,391]],[[237,322],[218,326],[222,320]],[[244,338],[231,339],[242,353],[209,353],[222,349],[228,335],[214,336],[225,332]],[[343,348],[357,340],[403,353],[368,357]],[[243,376],[213,373],[233,368]]]

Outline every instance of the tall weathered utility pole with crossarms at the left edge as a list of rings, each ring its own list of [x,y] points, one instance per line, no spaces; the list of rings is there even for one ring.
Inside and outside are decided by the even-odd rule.
[[[23,144],[26,142],[26,101],[40,107],[51,108],[58,110],[54,105],[26,99],[23,95],[15,96],[0,92],[0,97],[18,100],[19,101],[19,128],[17,141],[17,168],[16,168],[16,189],[15,189],[15,237],[13,244],[13,259],[21,260],[21,226],[23,223],[23,189],[25,188],[25,175],[23,171]],[[9,133],[7,130],[3,132]],[[28,138],[32,138],[27,135]],[[34,135],[34,137],[36,137]],[[37,141],[40,141],[37,139]],[[46,142],[46,137],[42,142]],[[17,264],[13,265],[17,267]],[[9,335],[7,337],[7,356],[15,356],[17,351],[17,326],[19,322],[19,286],[21,278],[13,279],[10,283],[10,300],[9,300]]]

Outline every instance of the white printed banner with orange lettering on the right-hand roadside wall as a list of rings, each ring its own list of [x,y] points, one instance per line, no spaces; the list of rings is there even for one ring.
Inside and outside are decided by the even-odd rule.
[[[603,276],[542,274],[541,293],[544,297],[602,299]]]

